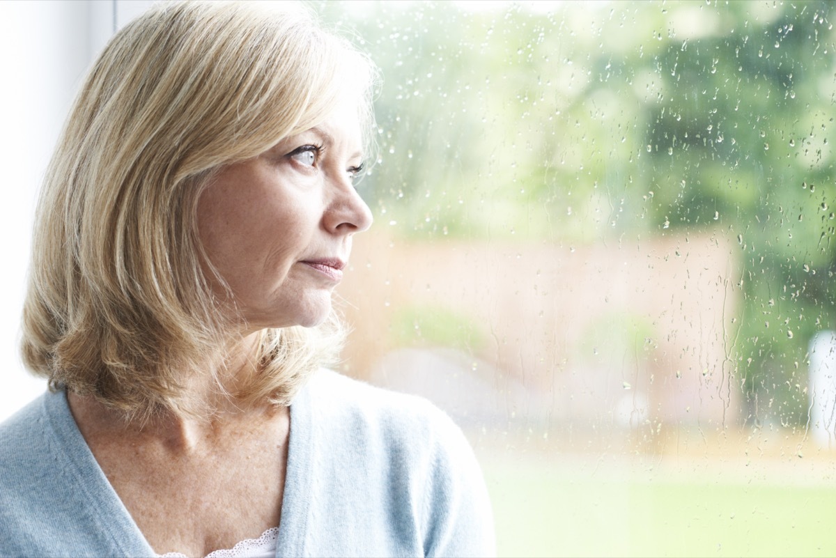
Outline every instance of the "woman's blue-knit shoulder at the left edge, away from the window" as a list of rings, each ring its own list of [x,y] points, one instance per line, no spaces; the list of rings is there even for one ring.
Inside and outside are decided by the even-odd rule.
[[[0,556],[143,549],[141,537],[113,536],[113,525],[135,527],[130,517],[120,520],[121,503],[84,444],[63,391],[43,393],[0,424],[0,471]]]

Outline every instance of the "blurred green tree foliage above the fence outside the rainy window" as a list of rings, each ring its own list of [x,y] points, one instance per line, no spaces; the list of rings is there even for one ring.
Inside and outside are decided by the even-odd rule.
[[[550,6],[317,5],[385,79],[370,205],[412,239],[731,238],[751,414],[803,421],[836,327],[831,4]]]

